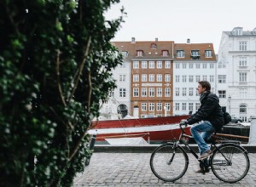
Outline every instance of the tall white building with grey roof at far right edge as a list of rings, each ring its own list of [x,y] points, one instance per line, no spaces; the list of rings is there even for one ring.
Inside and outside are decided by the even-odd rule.
[[[231,116],[256,114],[256,28],[224,31],[218,51],[217,93]]]

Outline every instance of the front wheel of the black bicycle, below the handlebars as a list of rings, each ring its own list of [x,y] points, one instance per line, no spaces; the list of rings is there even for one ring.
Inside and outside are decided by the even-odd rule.
[[[189,165],[186,152],[173,144],[162,144],[157,147],[150,157],[150,167],[157,178],[166,182],[173,182],[183,177]]]

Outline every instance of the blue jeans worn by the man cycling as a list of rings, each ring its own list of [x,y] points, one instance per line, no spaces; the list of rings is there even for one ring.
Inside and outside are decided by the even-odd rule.
[[[205,140],[210,139],[212,133],[215,132],[215,128],[212,126],[211,122],[201,122],[198,125],[191,127],[190,132],[194,137],[195,142],[198,144],[199,152],[201,155],[207,152],[207,150],[210,150]]]

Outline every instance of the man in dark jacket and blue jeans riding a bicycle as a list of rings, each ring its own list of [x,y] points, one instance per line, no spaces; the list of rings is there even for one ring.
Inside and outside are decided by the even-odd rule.
[[[199,122],[199,124],[190,128],[190,132],[199,147],[201,156],[198,160],[203,160],[208,156],[212,156],[212,150],[210,150],[205,140],[210,139],[212,133],[219,131],[224,126],[224,116],[219,105],[218,96],[210,92],[211,84],[209,82],[198,82],[197,90],[198,94],[200,94],[201,106],[195,114],[183,121],[183,124]],[[198,173],[200,172],[198,171]]]

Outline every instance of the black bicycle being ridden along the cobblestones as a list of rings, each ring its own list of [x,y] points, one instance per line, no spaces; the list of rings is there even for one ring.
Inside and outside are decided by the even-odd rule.
[[[150,157],[152,172],[157,178],[166,182],[174,182],[182,178],[188,169],[189,156],[179,144],[184,144],[196,159],[199,157],[189,146],[189,139],[193,137],[185,133],[184,127],[187,125],[181,123],[179,127],[181,129],[179,139],[160,145]],[[247,175],[250,160],[247,150],[241,147],[239,141],[218,140],[214,133],[209,143],[213,150],[212,156],[199,161],[203,174],[207,173],[210,167],[218,179],[227,183],[236,183]]]

